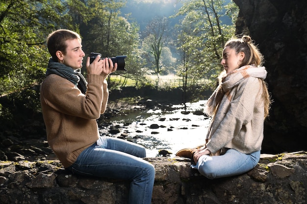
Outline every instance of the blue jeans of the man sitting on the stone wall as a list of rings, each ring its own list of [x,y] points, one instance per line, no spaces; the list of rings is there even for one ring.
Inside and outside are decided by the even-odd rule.
[[[133,142],[109,136],[100,137],[68,167],[80,175],[128,180],[129,204],[151,204],[154,167],[146,157],[145,148]]]

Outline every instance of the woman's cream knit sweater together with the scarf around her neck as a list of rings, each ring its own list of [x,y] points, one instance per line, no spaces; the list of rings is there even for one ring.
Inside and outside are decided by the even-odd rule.
[[[207,102],[207,110],[218,109],[206,136],[211,153],[223,147],[245,154],[261,150],[264,122],[261,80],[266,74],[264,67],[245,66],[223,77]]]

